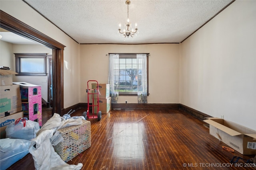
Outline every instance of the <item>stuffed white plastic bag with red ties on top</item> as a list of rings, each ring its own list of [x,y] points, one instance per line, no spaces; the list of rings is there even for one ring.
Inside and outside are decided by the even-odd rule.
[[[12,122],[5,129],[6,138],[31,140],[36,137],[40,126],[38,122],[28,120],[28,118],[20,118]]]

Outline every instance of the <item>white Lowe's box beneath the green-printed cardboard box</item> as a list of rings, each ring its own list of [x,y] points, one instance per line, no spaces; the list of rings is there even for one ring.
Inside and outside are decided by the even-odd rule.
[[[0,124],[0,133],[1,133],[0,138],[3,139],[6,137],[5,129],[10,123],[12,123],[22,117],[23,117],[23,111],[19,111],[12,115],[0,118],[0,123],[1,123]]]

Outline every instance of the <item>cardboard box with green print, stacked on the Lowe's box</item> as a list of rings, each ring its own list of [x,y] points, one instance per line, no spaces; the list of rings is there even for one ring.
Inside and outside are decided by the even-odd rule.
[[[0,117],[22,111],[20,86],[0,86]]]

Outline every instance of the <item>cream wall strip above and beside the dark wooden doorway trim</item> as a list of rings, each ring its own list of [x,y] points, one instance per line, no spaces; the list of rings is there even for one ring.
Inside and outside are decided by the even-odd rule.
[[[34,11],[22,0],[1,0],[1,10],[26,23],[48,37],[62,43],[64,48],[64,108],[80,101],[79,44],[63,33],[55,25]]]

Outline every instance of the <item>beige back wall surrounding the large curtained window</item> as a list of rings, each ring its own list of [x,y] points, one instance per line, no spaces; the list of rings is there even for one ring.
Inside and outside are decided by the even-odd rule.
[[[81,102],[87,102],[87,81],[108,82],[108,53],[150,53],[148,103],[179,103],[180,45],[80,45]],[[89,86],[90,88],[90,86]],[[118,103],[138,103],[136,96],[119,96]]]

